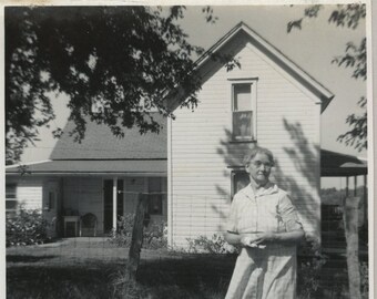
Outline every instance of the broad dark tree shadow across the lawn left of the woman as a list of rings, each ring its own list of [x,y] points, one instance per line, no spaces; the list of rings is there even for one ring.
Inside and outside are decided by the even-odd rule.
[[[156,299],[223,298],[234,262],[235,256],[223,255],[142,259],[139,289]],[[7,298],[125,298],[124,293],[115,292],[116,276],[123,275],[124,269],[124,260],[10,267],[7,269]]]

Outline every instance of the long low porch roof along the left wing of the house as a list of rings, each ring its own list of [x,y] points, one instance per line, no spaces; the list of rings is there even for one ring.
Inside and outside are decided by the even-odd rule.
[[[21,167],[21,168],[20,168]],[[7,175],[133,175],[166,176],[166,159],[64,159],[6,168]]]

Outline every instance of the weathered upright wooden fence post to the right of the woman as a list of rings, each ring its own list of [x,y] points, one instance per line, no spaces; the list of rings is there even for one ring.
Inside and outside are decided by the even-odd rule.
[[[347,268],[349,298],[360,299],[360,269],[358,260],[358,208],[359,197],[347,197],[344,209],[344,226],[347,241]]]

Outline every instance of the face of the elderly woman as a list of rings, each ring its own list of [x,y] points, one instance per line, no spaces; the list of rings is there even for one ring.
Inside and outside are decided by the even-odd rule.
[[[272,165],[267,155],[258,153],[245,168],[251,179],[263,186],[268,182]]]

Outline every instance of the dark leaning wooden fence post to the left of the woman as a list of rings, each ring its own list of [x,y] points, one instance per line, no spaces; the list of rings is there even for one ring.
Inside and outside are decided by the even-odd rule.
[[[126,275],[129,280],[136,280],[136,274],[140,262],[140,252],[143,245],[144,214],[146,210],[147,197],[139,194],[135,220],[132,229],[132,239],[129,251],[129,261]]]

